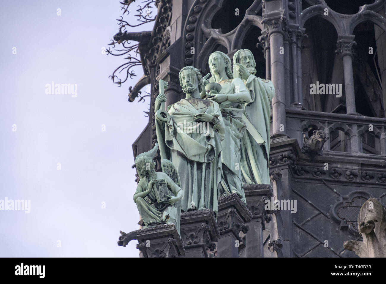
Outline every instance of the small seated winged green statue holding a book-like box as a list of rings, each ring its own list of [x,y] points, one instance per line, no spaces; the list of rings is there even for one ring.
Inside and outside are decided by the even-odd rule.
[[[135,158],[135,167],[141,180],[134,194],[134,202],[146,226],[174,224],[179,233],[181,215],[179,203],[183,191],[178,173],[169,160],[161,161],[163,172],[155,171],[156,163],[153,158],[157,150],[156,143],[152,150]]]

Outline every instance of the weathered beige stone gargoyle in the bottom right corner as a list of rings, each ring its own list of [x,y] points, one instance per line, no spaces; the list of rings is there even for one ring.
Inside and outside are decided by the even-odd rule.
[[[358,230],[363,241],[345,241],[346,250],[352,250],[359,257],[386,257],[386,209],[376,198],[362,205]]]

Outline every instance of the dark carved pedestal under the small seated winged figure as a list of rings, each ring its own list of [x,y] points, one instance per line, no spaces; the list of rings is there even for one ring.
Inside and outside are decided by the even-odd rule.
[[[137,248],[143,257],[179,257],[185,255],[174,224],[162,224],[137,231]]]

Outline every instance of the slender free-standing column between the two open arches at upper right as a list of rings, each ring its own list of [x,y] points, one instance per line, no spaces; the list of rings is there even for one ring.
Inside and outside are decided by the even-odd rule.
[[[353,46],[357,43],[354,41],[354,35],[339,35],[336,53],[340,53],[343,59],[344,86],[346,95],[347,114],[356,114],[355,93],[354,93],[354,75],[352,73],[352,53]]]

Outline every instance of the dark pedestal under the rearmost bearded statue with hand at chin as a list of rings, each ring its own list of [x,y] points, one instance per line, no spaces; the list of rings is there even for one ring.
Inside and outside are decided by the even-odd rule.
[[[248,233],[245,235],[246,257],[264,257],[263,230],[268,218],[264,210],[264,200],[271,198],[272,187],[270,184],[244,185],[247,206],[251,209],[252,219],[247,223]]]

